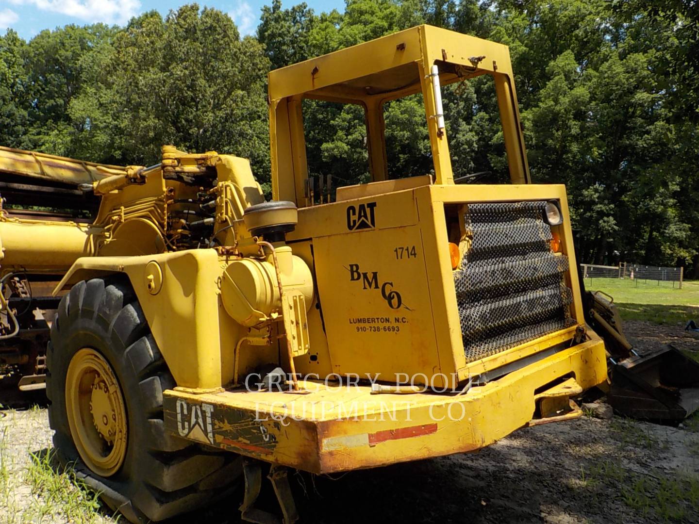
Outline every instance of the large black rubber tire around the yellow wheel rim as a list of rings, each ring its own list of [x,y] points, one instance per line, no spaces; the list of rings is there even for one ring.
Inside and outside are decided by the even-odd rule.
[[[127,412],[124,462],[107,478],[81,460],[66,414],[66,372],[82,348],[92,348],[106,359]],[[173,388],[175,381],[122,275],[78,282],[62,298],[51,328],[47,367],[49,421],[59,460],[72,465],[111,509],[129,521],[157,522],[186,514],[238,486],[242,474],[238,456],[165,431],[163,391]]]

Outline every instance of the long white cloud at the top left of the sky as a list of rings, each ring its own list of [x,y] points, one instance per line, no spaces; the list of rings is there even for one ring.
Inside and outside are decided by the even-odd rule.
[[[139,0],[9,0],[17,6],[59,13],[85,22],[124,24],[138,14]]]

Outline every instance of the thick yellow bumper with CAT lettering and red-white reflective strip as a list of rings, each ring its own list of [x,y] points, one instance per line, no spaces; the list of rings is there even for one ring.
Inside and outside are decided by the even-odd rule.
[[[301,381],[302,392],[175,388],[164,393],[165,423],[175,435],[313,473],[474,451],[530,423],[535,395],[556,379],[575,377],[583,389],[607,379],[604,344],[589,334],[463,395],[372,395],[318,381]]]

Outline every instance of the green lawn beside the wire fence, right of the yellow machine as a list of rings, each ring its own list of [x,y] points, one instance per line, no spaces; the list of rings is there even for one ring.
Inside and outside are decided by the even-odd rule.
[[[588,291],[604,291],[614,297],[624,320],[646,320],[677,326],[694,319],[699,324],[699,281],[677,282],[621,280],[617,278],[585,279]]]

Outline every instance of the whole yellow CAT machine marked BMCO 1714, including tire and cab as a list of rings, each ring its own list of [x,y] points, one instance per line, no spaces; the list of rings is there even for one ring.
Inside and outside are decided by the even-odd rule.
[[[440,89],[478,75],[495,83],[510,185],[455,184],[470,176],[452,171]],[[387,180],[383,105],[412,94],[433,173]],[[269,522],[254,502],[271,463],[291,522],[284,467],[473,451],[579,416],[571,398],[607,379],[565,188],[529,184],[506,46],[420,26],[272,71],[269,99],[271,202],[246,160],[165,146],[148,168],[56,159],[72,215],[0,219],[3,286],[55,282],[17,297],[35,318],[55,306],[55,447],[130,521],[193,511],[244,474],[243,518]],[[315,190],[303,99],[363,107],[371,182]]]

